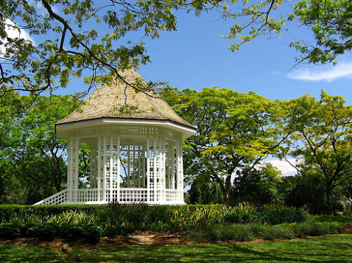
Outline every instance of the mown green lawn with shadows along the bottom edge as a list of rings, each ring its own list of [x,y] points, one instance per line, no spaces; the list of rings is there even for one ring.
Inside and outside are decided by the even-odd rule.
[[[58,248],[0,245],[0,262],[339,262],[352,263],[352,234],[225,245]]]

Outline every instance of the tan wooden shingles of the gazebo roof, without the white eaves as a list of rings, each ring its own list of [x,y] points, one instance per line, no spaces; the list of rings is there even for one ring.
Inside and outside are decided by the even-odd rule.
[[[98,118],[132,118],[169,120],[186,127],[195,127],[182,119],[152,91],[136,91],[133,86],[147,86],[146,81],[133,68],[120,72],[125,79],[99,86],[72,114],[56,124],[94,120]],[[127,82],[127,83],[126,83]]]

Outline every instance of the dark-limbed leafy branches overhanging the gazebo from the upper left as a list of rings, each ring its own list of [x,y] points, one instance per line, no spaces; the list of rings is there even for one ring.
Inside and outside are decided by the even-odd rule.
[[[82,76],[91,86],[113,76],[122,79],[117,68],[149,62],[144,43],[132,44],[127,33],[141,31],[142,39],[176,30],[180,9],[196,15],[218,9],[230,18],[228,4],[233,5],[210,0],[1,1],[0,91],[51,92]],[[104,30],[96,30],[97,25]]]

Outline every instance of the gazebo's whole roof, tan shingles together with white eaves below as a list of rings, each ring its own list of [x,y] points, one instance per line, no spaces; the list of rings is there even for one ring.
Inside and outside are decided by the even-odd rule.
[[[56,134],[67,138],[71,129],[103,124],[160,126],[180,131],[184,138],[195,133],[196,128],[177,115],[160,95],[134,89],[133,86],[147,86],[136,70],[125,70],[120,75],[125,82],[118,79],[99,86],[79,109],[56,122]]]

